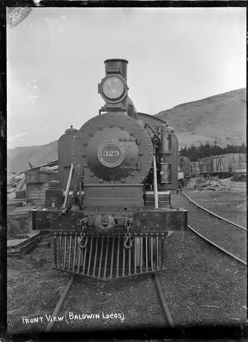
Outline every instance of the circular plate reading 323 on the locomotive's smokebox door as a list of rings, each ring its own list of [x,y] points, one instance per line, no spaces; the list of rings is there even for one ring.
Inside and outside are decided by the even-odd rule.
[[[115,168],[120,165],[125,157],[122,144],[116,140],[106,140],[98,149],[98,159],[107,168]]]

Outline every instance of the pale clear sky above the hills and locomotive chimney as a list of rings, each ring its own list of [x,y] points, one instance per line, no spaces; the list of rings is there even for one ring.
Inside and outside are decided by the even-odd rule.
[[[8,149],[98,115],[110,58],[129,62],[128,96],[151,115],[246,87],[246,8],[34,8],[7,30]]]

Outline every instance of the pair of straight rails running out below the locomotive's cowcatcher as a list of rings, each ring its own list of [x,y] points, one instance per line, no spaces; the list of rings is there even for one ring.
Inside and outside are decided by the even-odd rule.
[[[71,278],[69,279],[63,293],[62,293],[62,296],[60,298],[60,300],[58,301],[55,309],[54,309],[54,312],[53,314],[51,315],[51,319],[50,321],[48,322],[47,326],[46,326],[46,329],[45,329],[45,333],[50,333],[54,330],[54,326],[56,323],[59,323],[59,321],[57,320],[53,320],[53,318],[57,318],[59,316],[59,313],[62,309],[62,306],[63,306],[63,303],[65,301],[65,299],[67,298],[69,292],[70,292],[70,289],[74,283],[74,280],[76,278],[77,275],[73,274],[71,276]],[[162,290],[162,287],[161,287],[161,283],[160,283],[160,280],[158,278],[158,275],[156,272],[152,273],[152,278],[154,279],[155,281],[155,285],[156,285],[156,289],[157,289],[157,292],[158,292],[158,296],[159,296],[159,299],[160,299],[160,303],[161,303],[161,306],[163,307],[163,310],[164,310],[164,313],[165,313],[165,317],[166,317],[166,320],[167,320],[167,323],[168,323],[168,326],[171,328],[171,329],[175,329],[176,326],[174,324],[174,321],[172,319],[172,316],[171,316],[171,313],[170,313],[170,310],[168,308],[168,305],[166,303],[166,300],[165,300],[165,296],[164,296],[164,292]]]

